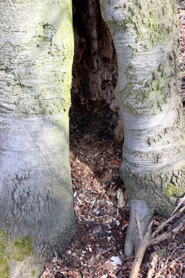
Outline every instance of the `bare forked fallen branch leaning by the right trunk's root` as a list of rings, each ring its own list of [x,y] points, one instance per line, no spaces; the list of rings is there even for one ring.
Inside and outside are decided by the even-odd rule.
[[[181,204],[182,204],[182,202],[181,202]],[[178,205],[178,208],[179,208],[179,205]],[[134,263],[132,265],[129,278],[137,278],[138,277],[138,272],[140,270],[140,264],[143,261],[143,256],[145,254],[147,247],[150,247],[151,245],[155,245],[163,240],[167,240],[168,238],[170,238],[175,233],[179,232],[184,227],[185,219],[183,219],[181,217],[182,221],[177,226],[175,226],[174,229],[167,231],[161,235],[157,235],[160,231],[163,231],[164,227],[167,226],[167,224],[170,221],[172,221],[172,219],[174,219],[175,217],[179,217],[179,215],[181,215],[184,212],[184,210],[185,210],[185,206],[178,211],[176,210],[177,211],[176,213],[174,210],[174,212],[172,213],[172,216],[170,218],[168,218],[165,222],[163,222],[160,226],[158,226],[156,231],[154,231],[154,233],[152,233],[152,235],[151,235],[151,230],[152,230],[153,222],[150,223],[150,225],[147,227],[147,231],[146,231],[146,234],[145,234],[143,240],[140,241],[140,247],[138,248],[138,251],[134,258]],[[139,228],[140,221],[138,219],[137,213],[136,213],[136,222],[137,222],[138,231],[140,234],[140,228]]]

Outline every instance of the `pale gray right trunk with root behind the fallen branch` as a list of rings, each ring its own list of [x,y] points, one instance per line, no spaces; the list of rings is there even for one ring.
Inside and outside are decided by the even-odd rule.
[[[100,4],[118,57],[116,97],[124,125],[120,176],[129,194],[131,217],[138,208],[140,217],[146,218],[145,232],[154,210],[168,215],[184,194],[176,1],[100,0]],[[134,231],[136,222],[130,219],[127,256],[134,245],[138,247]]]

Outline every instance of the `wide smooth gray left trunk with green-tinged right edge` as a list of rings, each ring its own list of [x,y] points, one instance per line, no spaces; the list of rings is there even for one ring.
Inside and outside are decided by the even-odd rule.
[[[72,3],[1,0],[0,26],[0,229],[11,240],[32,242],[29,257],[8,258],[9,276],[38,277],[75,230],[68,138]]]

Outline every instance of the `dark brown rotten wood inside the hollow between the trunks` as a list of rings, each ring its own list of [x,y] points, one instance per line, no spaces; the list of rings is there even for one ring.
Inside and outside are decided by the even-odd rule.
[[[113,111],[115,139],[122,140],[122,119],[115,86],[118,65],[111,33],[102,20],[99,0],[73,0],[74,62],[72,103],[80,98],[89,109],[104,100]],[[93,102],[92,102],[93,101]],[[93,108],[92,108],[93,109]]]

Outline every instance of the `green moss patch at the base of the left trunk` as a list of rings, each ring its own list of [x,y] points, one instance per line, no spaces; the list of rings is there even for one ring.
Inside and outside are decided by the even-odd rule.
[[[31,256],[32,245],[29,235],[10,240],[8,234],[0,229],[0,278],[10,277],[10,261],[24,261],[24,258]]]

